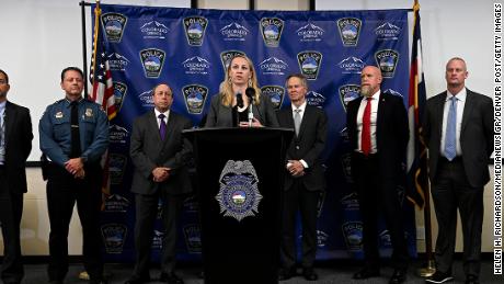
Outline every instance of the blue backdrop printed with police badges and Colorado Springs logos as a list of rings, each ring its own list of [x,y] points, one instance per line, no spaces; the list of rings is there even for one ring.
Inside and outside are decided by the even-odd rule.
[[[362,223],[352,190],[346,103],[358,95],[360,70],[381,68],[382,89],[404,98],[408,105],[408,10],[374,11],[224,11],[102,4],[107,58],[114,81],[117,116],[111,122],[111,193],[102,214],[107,261],[133,261],[133,164],[128,157],[135,117],[153,106],[151,89],[168,82],[174,92],[172,110],[195,126],[217,94],[229,60],[239,53],[253,61],[264,94],[276,107],[289,106],[287,75],[309,78],[309,104],[325,110],[329,139],[324,152],[328,190],[320,200],[318,259],[362,258]],[[93,5],[94,9],[94,5]],[[93,15],[94,16],[94,15]],[[404,94],[404,95],[403,95]],[[404,198],[400,189],[399,197]],[[410,252],[416,255],[414,209],[404,202]],[[194,196],[184,203],[179,230],[179,255],[201,257]],[[160,228],[160,227],[158,227]],[[390,236],[381,225],[380,246],[390,254]],[[300,234],[300,230],[299,230]],[[161,229],[153,232],[153,258]]]

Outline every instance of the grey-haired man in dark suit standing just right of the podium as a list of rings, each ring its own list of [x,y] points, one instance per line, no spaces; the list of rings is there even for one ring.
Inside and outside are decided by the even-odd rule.
[[[307,79],[296,73],[287,77],[287,92],[291,106],[278,112],[282,127],[295,128],[296,136],[287,150],[280,255],[280,281],[296,275],[296,213],[302,224],[302,275],[317,281],[313,262],[317,252],[317,204],[325,189],[321,154],[328,135],[328,117],[323,110],[307,104]]]

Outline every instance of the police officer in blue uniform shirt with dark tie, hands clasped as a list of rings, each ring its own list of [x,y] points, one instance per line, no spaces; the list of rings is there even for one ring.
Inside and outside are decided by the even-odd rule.
[[[65,99],[47,106],[38,125],[41,150],[49,160],[49,283],[64,283],[68,272],[68,229],[76,202],[90,283],[106,283],[100,249],[100,160],[108,146],[108,120],[99,104],[82,98],[82,70],[65,68],[60,84]]]

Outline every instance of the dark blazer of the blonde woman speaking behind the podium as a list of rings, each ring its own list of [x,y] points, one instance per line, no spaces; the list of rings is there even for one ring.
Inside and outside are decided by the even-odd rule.
[[[220,101],[221,94],[218,93],[211,98],[210,110],[206,116],[205,127],[232,127],[231,107],[222,105]],[[261,122],[263,126],[278,127],[278,121],[275,116],[275,110],[268,98],[261,94],[259,105],[252,106],[254,117]]]

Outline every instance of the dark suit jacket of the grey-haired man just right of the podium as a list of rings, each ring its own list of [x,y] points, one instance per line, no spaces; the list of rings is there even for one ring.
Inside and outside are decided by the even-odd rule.
[[[277,113],[280,127],[294,128],[293,109],[286,107]],[[322,168],[321,155],[325,148],[328,136],[328,116],[319,107],[307,105],[302,115],[299,135],[293,138],[287,149],[286,160],[305,160],[308,168],[305,175],[293,178],[285,174],[285,190],[291,188],[294,179],[301,179],[305,188],[309,191],[322,191],[325,189],[325,177]]]

